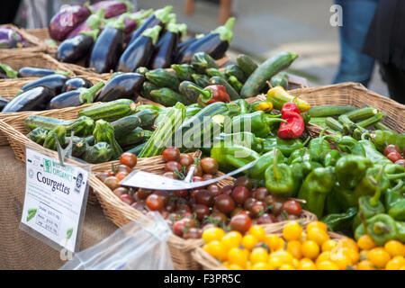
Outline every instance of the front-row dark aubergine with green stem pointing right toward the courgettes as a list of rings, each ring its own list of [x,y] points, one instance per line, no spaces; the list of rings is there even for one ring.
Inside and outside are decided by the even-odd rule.
[[[100,90],[103,82],[99,82],[90,88],[78,88],[77,90],[68,91],[52,98],[48,104],[48,109],[60,109],[66,107],[76,107],[84,103],[93,103],[94,94]]]

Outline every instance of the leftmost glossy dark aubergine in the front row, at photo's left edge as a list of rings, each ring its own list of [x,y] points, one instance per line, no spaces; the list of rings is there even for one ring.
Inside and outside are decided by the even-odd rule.
[[[55,94],[45,86],[33,87],[15,96],[2,112],[42,111]]]

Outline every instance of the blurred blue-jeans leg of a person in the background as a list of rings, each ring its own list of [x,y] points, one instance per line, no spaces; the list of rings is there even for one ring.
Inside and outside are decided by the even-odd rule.
[[[362,49],[378,0],[336,0],[335,3],[342,6],[343,26],[339,27],[340,64],[333,83],[359,82],[367,86],[373,75],[374,58],[365,55]]]

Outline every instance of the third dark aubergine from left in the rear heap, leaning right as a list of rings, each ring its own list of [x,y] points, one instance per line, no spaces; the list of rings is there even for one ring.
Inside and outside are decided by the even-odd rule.
[[[118,70],[122,72],[133,72],[138,67],[148,66],[161,29],[159,25],[148,28],[137,40],[133,41],[122,53]]]

